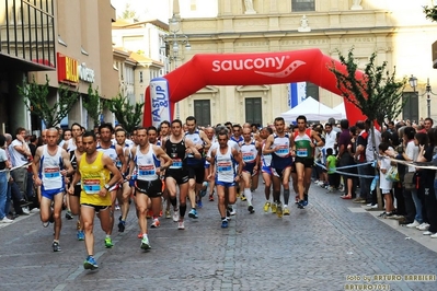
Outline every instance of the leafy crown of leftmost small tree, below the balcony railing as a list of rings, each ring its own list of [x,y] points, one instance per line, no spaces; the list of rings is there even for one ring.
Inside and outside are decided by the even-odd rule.
[[[46,83],[37,84],[35,78],[31,83],[18,85],[19,94],[24,97],[24,104],[30,112],[37,115],[46,128],[55,127],[68,115],[79,98],[79,93],[60,85],[58,89],[59,101],[53,106],[48,104],[49,79],[46,74]]]

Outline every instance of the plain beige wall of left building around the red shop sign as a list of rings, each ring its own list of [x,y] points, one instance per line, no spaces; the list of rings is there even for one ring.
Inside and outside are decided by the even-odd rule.
[[[110,0],[97,1],[55,1],[56,18],[56,51],[76,59],[78,65],[84,66],[94,72],[94,80],[80,80],[72,85],[82,95],[88,94],[90,84],[97,89],[103,98],[112,98],[118,94],[119,80],[113,66],[112,22],[115,21],[115,9]],[[58,70],[58,68],[57,68]],[[38,82],[45,82],[48,74],[50,86],[58,88],[57,70],[51,72],[37,72]],[[50,97],[55,102],[58,96]],[[82,97],[74,105],[68,116],[68,123],[88,124],[87,110],[82,107]],[[105,121],[113,121],[112,114],[105,114]]]

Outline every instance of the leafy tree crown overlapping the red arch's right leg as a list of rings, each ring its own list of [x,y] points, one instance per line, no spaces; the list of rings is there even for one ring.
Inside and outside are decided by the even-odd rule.
[[[380,66],[376,65],[377,54],[373,53],[365,67],[363,79],[357,79],[358,63],[353,50],[349,50],[347,57],[338,51],[340,61],[346,67],[345,73],[335,66],[330,68],[337,79],[338,90],[370,120],[377,120],[380,125],[383,125],[384,118],[393,120],[402,113],[406,102],[406,100],[402,102],[406,78],[398,81],[395,68],[390,73],[387,61]]]

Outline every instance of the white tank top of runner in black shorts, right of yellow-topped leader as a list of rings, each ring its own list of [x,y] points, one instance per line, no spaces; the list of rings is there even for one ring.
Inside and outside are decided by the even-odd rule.
[[[141,181],[156,181],[158,179],[157,167],[159,166],[159,160],[153,152],[153,146],[149,143],[147,153],[140,151],[140,147],[137,146],[137,156],[135,158],[135,164],[137,165],[137,179]]]

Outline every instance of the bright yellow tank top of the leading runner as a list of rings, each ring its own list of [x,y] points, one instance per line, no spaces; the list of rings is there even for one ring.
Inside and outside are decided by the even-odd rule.
[[[80,202],[94,206],[110,206],[112,203],[111,194],[105,197],[99,196],[99,191],[110,182],[110,170],[102,162],[103,152],[97,152],[95,161],[91,164],[87,162],[87,153],[83,153],[79,173],[81,175],[82,191],[80,193]]]

